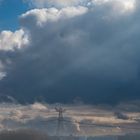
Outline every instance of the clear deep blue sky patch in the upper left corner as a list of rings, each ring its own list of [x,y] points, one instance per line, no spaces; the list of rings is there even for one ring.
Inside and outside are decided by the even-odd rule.
[[[1,0],[0,30],[16,30],[19,28],[18,17],[29,10],[29,6],[22,0]]]

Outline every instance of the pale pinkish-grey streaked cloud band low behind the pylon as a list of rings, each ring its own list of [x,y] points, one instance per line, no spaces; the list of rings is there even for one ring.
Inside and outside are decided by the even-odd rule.
[[[62,136],[69,136],[70,134],[77,136],[139,134],[140,130],[135,129],[139,128],[140,119],[139,104],[137,103],[128,103],[113,108],[111,106],[63,104],[66,109],[63,120],[65,129],[62,128],[63,131],[60,133]],[[1,103],[0,133],[3,130],[33,129],[54,136],[58,124],[58,113],[54,109],[55,106],[55,104],[37,102],[28,105]],[[126,107],[129,109],[124,111],[123,109]],[[114,115],[115,111],[125,113],[128,119],[117,118]]]

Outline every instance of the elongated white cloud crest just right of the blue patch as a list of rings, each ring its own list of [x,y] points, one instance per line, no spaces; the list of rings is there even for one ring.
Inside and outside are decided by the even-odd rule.
[[[72,18],[78,15],[82,15],[87,11],[88,9],[86,7],[81,6],[62,8],[61,10],[56,8],[34,9],[21,15],[21,20],[25,22],[25,24],[28,20],[30,24],[27,23],[27,26],[33,26],[33,24],[36,24],[37,26],[43,26],[43,24],[46,25],[47,22],[57,22],[58,20]]]

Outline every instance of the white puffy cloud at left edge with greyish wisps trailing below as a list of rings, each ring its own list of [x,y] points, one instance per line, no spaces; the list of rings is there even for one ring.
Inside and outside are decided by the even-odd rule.
[[[0,32],[0,80],[6,77],[7,64],[11,63],[7,52],[14,52],[24,48],[29,40],[25,32],[20,29],[15,32],[2,31]]]

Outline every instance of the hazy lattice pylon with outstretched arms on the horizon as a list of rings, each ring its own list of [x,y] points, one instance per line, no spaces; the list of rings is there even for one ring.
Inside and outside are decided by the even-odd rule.
[[[58,124],[57,124],[57,130],[56,130],[56,135],[61,136],[63,135],[64,132],[64,124],[63,124],[63,113],[66,111],[63,109],[61,106],[55,107],[56,112],[58,112]]]

